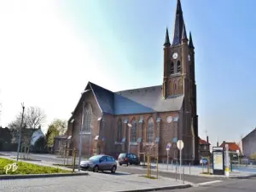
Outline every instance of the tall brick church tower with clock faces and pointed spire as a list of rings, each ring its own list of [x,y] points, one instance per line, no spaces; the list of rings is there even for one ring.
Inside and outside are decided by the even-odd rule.
[[[187,141],[189,146],[184,151],[183,158],[198,160],[198,116],[196,111],[196,84],[195,84],[195,52],[191,32],[189,39],[180,0],[177,0],[175,24],[172,44],[166,28],[166,41],[164,44],[164,79],[163,97],[170,99],[183,96],[181,109],[183,129],[179,131],[179,139]],[[185,148],[184,148],[185,149]],[[190,153],[192,151],[192,153]]]

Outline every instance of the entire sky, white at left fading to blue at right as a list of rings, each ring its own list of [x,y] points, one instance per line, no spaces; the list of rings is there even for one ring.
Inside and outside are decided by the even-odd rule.
[[[0,125],[38,106],[68,119],[90,80],[108,90],[162,83],[177,0],[1,0]],[[199,131],[239,141],[255,126],[256,1],[181,0],[195,44]]]

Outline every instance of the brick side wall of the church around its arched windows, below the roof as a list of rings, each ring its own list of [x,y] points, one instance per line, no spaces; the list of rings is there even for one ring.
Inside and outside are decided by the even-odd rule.
[[[172,117],[172,122],[168,123],[166,121],[167,117]],[[166,144],[172,143],[173,137],[177,137],[177,127],[178,123],[175,121],[175,117],[178,116],[177,112],[166,112],[166,113],[140,113],[140,114],[129,114],[129,115],[118,115],[114,116],[114,132],[113,138],[114,141],[118,144],[114,145],[116,153],[127,152],[128,151],[128,142],[129,142],[129,127],[127,123],[132,122],[133,119],[137,122],[137,138],[142,137],[143,143],[148,143],[148,120],[150,118],[154,119],[154,139],[155,137],[160,137],[160,143],[156,148],[158,148],[158,154],[161,160],[166,160]],[[157,122],[157,119],[160,118],[160,122]],[[119,119],[122,121],[122,138],[125,137],[125,143],[120,144],[118,140],[118,128],[119,128]],[[127,123],[124,123],[127,119]],[[139,123],[140,119],[143,119],[142,123]],[[158,132],[157,129],[160,128]],[[131,134],[131,133],[130,133]],[[159,134],[159,135],[158,135]],[[131,136],[131,135],[130,135]],[[130,137],[131,138],[131,137]],[[136,143],[131,143],[130,152],[134,154],[142,153],[146,150],[143,148],[143,143],[137,145]],[[122,148],[121,151],[119,149]],[[177,150],[173,146],[170,150],[170,159],[177,157]],[[154,149],[154,152],[157,153],[157,150]]]

